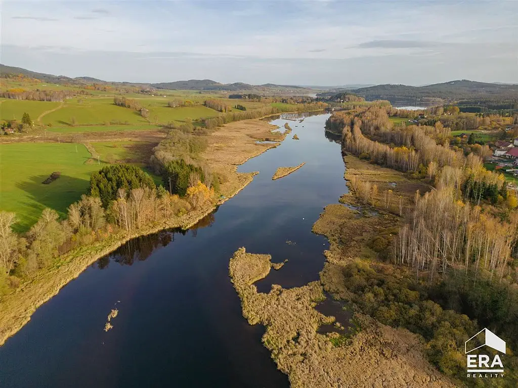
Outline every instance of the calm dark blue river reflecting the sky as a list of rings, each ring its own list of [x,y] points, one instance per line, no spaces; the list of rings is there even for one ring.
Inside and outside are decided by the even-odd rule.
[[[137,238],[71,281],[0,348],[0,386],[287,387],[261,343],[264,328],[241,315],[228,261],[241,246],[289,259],[261,291],[318,279],[328,244],[311,226],[347,191],[327,117],[288,121],[292,135],[240,166],[260,171],[254,181],[196,228]],[[104,332],[112,308],[119,314]]]

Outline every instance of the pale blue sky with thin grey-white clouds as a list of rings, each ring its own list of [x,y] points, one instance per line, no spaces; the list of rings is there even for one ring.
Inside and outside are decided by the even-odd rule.
[[[518,1],[0,2],[0,62],[107,81],[518,83]]]

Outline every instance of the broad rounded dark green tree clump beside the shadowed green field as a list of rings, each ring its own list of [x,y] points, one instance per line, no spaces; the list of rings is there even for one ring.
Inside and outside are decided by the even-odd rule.
[[[90,176],[89,195],[99,197],[103,206],[117,199],[117,191],[130,191],[137,188],[154,188],[153,178],[139,167],[132,165],[113,165],[103,167]]]

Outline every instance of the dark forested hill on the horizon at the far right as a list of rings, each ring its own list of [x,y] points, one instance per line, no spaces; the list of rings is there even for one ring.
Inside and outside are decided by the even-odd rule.
[[[516,99],[518,85],[457,80],[427,86],[384,84],[355,89],[354,93],[367,100],[435,97],[452,101],[496,96],[501,99]]]

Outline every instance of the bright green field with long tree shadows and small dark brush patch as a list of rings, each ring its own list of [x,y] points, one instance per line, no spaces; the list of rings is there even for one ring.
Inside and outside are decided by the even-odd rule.
[[[94,143],[94,147],[102,156],[113,155],[113,161],[121,161],[136,157],[130,143]],[[106,166],[104,157],[98,165],[84,145],[75,143],[2,144],[0,155],[0,209],[17,214],[18,232],[28,230],[45,207],[64,217],[67,207],[87,192],[90,174]],[[60,171],[61,177],[42,184],[54,171]],[[160,183],[160,177],[153,178]]]

